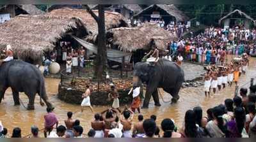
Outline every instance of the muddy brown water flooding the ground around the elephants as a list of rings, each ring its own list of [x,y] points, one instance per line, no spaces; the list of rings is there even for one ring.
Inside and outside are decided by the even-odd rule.
[[[239,80],[239,85],[243,85],[246,82],[250,82],[250,78],[256,76],[255,64],[256,58],[250,59],[250,67],[248,67],[248,73],[246,76],[242,76]],[[77,112],[74,113],[74,119],[79,119],[81,121],[81,125],[84,127],[84,134],[87,133],[90,129],[90,122],[93,120],[93,113],[89,109],[85,109],[83,113],[81,113],[80,106],[74,104],[67,104],[63,101],[60,101],[56,96],[58,92],[58,83],[60,80],[46,78],[45,86],[47,89],[47,94],[50,101],[54,104],[55,110],[54,113],[58,116],[59,123],[64,125],[64,119],[67,118],[67,111]],[[246,87],[248,87],[246,85]],[[184,123],[184,115],[186,110],[193,109],[195,106],[201,106],[205,112],[208,108],[216,106],[227,98],[234,96],[235,85],[233,87],[227,87],[225,90],[221,90],[221,92],[217,92],[212,97],[205,97],[203,87],[193,88],[189,87],[186,89],[180,90],[180,99],[177,104],[163,103],[161,99],[161,107],[155,107],[154,103],[151,102],[150,106],[147,110],[142,110],[142,114],[145,118],[149,118],[150,115],[157,116],[157,124],[161,124],[161,120],[164,118],[172,118],[175,120],[175,123],[182,127]],[[169,94],[166,94],[161,90],[161,94],[163,94],[164,101],[170,101],[171,97]],[[28,97],[24,94],[20,94],[20,99],[22,102],[27,105]],[[35,110],[26,111],[26,109],[20,106],[13,106],[13,98],[11,90],[8,89],[5,94],[5,98],[0,104],[0,120],[2,121],[4,127],[8,129],[8,135],[10,136],[12,133],[12,129],[14,127],[20,127],[22,129],[22,136],[26,136],[30,133],[31,125],[36,125],[39,129],[44,128],[44,115],[45,115],[45,106],[42,107],[39,104],[40,98],[36,96],[35,100]],[[101,112],[106,110],[108,106],[93,106],[93,110],[95,112]],[[79,111],[79,112],[78,112]],[[137,122],[137,116],[134,117],[134,122]],[[41,132],[42,133],[42,132]]]

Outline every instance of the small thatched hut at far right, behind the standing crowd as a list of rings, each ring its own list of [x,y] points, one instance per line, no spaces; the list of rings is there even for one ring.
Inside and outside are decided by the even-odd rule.
[[[228,13],[227,15],[225,15],[224,17],[220,18],[219,24],[221,25],[221,23],[223,22],[224,26],[229,26],[230,20],[237,20],[237,19],[244,20],[244,26],[247,28],[250,26],[250,23],[252,23],[253,25],[256,24],[255,20],[252,17],[250,17],[249,15],[247,15],[241,10],[234,10]]]

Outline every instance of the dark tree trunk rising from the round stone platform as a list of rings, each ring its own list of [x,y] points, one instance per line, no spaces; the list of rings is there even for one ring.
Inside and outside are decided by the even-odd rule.
[[[98,80],[102,80],[102,75],[106,69],[107,52],[106,52],[106,29],[105,29],[105,15],[104,5],[99,4],[99,22],[98,22],[98,54],[95,64],[95,76]]]

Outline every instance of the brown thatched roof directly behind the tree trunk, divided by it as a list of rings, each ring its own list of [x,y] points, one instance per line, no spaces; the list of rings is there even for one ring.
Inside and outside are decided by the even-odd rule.
[[[96,15],[98,15],[98,10],[93,10]],[[92,34],[98,33],[98,25],[94,18],[88,13],[87,10],[71,9],[71,8],[62,8],[58,10],[52,10],[47,15],[51,17],[65,17],[65,18],[80,18],[81,21],[86,25],[87,29],[92,32]],[[115,27],[127,27],[128,24],[125,18],[116,12],[105,11],[105,25],[106,30],[112,29]]]

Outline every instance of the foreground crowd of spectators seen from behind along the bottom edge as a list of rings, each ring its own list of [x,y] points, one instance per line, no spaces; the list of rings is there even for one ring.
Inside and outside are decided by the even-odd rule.
[[[255,138],[256,137],[256,85],[240,90],[240,96],[225,99],[223,104],[207,110],[196,106],[185,113],[184,124],[177,127],[172,118],[164,118],[160,125],[156,124],[157,116],[144,118],[139,114],[136,123],[134,112],[127,107],[122,112],[114,108],[95,113],[91,129],[85,131],[73,113],[67,113],[63,125],[59,125],[58,117],[47,108],[44,115],[45,138]],[[27,137],[39,138],[40,129],[31,126],[31,134]],[[43,133],[43,132],[41,132]],[[8,130],[0,124],[0,137],[6,138]],[[12,138],[21,138],[22,130],[15,127]]]

